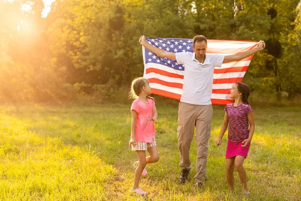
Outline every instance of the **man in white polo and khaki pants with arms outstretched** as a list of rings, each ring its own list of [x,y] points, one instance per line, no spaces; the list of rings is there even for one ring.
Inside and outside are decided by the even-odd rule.
[[[233,55],[206,54],[207,39],[198,35],[193,38],[192,48],[194,52],[167,52],[148,44],[145,37],[139,39],[141,45],[155,54],[177,60],[178,64],[184,64],[183,92],[179,103],[178,117],[178,146],[180,151],[180,182],[188,180],[191,169],[189,157],[190,145],[196,127],[197,141],[197,173],[194,176],[196,186],[201,187],[205,180],[208,155],[208,141],[211,134],[212,120],[212,84],[214,67],[221,67],[222,63],[238,61],[261,51],[265,47],[264,41],[260,41],[256,48]]]

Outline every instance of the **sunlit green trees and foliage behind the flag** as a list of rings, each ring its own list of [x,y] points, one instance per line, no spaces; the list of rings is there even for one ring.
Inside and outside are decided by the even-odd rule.
[[[26,2],[32,8],[21,12]],[[301,88],[298,3],[62,0],[44,19],[41,0],[1,1],[0,16],[7,20],[0,22],[0,102],[112,98],[114,91],[143,74],[141,35],[193,38],[196,34],[265,40],[266,51],[254,56],[244,81],[253,91],[286,91],[294,97]]]

